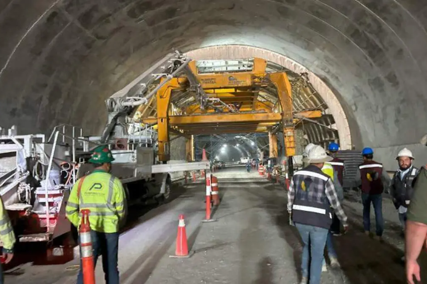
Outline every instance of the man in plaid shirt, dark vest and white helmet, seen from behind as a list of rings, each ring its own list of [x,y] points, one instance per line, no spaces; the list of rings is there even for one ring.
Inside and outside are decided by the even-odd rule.
[[[331,160],[325,149],[313,146],[304,158],[309,165],[294,173],[289,186],[287,210],[303,242],[301,284],[308,282],[308,275],[310,284],[320,283],[323,253],[332,224],[331,207],[343,222],[344,229],[348,228],[334,182],[321,170],[324,163]]]

